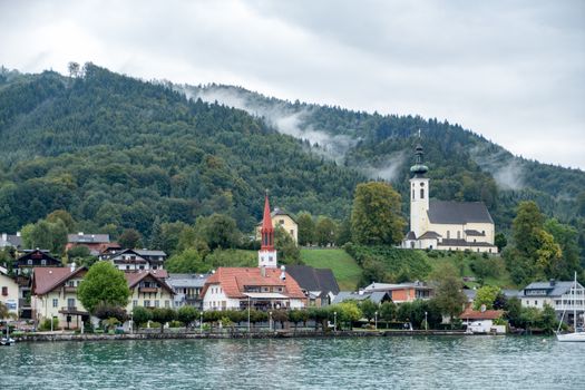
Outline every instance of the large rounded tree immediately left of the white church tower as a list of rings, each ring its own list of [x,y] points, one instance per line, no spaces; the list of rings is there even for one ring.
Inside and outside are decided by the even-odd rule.
[[[398,244],[406,222],[400,194],[383,182],[359,184],[351,212],[351,235],[359,244]]]

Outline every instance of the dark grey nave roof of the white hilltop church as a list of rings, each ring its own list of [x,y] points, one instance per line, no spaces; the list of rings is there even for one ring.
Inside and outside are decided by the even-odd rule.
[[[435,224],[494,223],[482,202],[429,201],[427,212]]]

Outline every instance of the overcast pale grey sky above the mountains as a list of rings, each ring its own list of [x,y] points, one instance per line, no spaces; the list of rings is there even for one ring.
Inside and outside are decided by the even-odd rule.
[[[0,65],[459,123],[585,169],[585,1],[0,0]]]

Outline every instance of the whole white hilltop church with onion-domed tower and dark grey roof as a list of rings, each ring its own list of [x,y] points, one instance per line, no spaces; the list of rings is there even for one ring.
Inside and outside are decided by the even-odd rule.
[[[482,202],[429,199],[430,181],[425,174],[422,146],[416,148],[417,163],[410,167],[410,232],[404,248],[497,253],[495,226]]]

